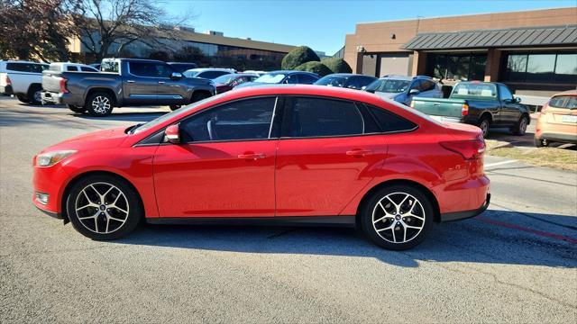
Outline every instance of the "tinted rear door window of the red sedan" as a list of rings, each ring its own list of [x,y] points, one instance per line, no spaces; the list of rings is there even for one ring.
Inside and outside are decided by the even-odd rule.
[[[354,103],[324,98],[291,97],[289,136],[357,135],[363,132],[361,112]]]

